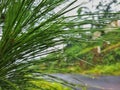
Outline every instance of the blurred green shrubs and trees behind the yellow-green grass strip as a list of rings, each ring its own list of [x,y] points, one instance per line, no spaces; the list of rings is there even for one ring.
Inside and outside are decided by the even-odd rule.
[[[71,32],[75,31],[76,33],[64,36],[67,42],[63,49],[64,55],[51,55],[51,57],[53,57],[51,60],[58,60],[58,63],[55,65],[59,67],[61,63],[61,67],[62,65],[64,67],[67,62],[67,65],[71,67],[77,65],[78,67],[85,66],[89,68],[96,64],[105,65],[119,62],[120,29],[119,27],[110,26],[110,23],[119,20],[120,13],[114,11],[112,7],[113,4],[119,5],[118,1],[111,0],[105,3],[99,2],[95,7],[95,11],[90,11],[87,7],[80,7],[78,9],[78,17],[73,18],[70,22],[71,27],[68,27],[71,29]],[[74,22],[76,22],[76,25],[72,26]],[[86,27],[84,25],[86,25]],[[89,27],[87,27],[87,25]],[[109,30],[111,30],[111,32],[109,32]],[[92,37],[96,31],[101,32],[101,36],[94,40]],[[106,42],[110,42],[110,44],[105,45]],[[97,56],[94,49],[98,46],[101,48],[101,53]],[[55,56],[57,56],[57,58]],[[65,69],[62,70],[63,72],[65,71]],[[69,70],[66,70],[66,72],[67,71],[69,72]]]

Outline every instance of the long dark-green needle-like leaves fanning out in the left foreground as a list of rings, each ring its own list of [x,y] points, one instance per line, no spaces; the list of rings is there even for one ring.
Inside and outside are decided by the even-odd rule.
[[[64,44],[70,27],[63,15],[75,1],[55,11],[66,0],[1,0],[0,1],[0,88],[25,90],[29,81],[44,76],[34,65],[46,62],[40,56],[59,51],[50,49]],[[70,20],[69,20],[70,21]],[[64,24],[66,22],[66,24]],[[54,60],[55,61],[55,60]],[[34,68],[31,68],[34,67]],[[39,75],[37,76],[37,74]],[[35,76],[34,76],[35,75]]]

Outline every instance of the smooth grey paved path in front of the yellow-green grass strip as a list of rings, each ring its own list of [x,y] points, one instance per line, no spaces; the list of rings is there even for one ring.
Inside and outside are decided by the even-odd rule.
[[[84,76],[76,74],[53,74],[70,83],[86,85],[87,90],[120,90],[120,76]],[[82,90],[82,89],[75,89]]]

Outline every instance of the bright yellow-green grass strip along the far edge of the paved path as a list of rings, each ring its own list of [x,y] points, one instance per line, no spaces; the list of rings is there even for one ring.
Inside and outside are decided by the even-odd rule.
[[[43,67],[44,71],[47,67]],[[58,66],[54,65],[49,67],[48,73],[77,73],[77,74],[90,74],[90,75],[120,75],[120,62],[109,65],[96,65],[94,67],[81,68],[80,65]]]

